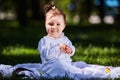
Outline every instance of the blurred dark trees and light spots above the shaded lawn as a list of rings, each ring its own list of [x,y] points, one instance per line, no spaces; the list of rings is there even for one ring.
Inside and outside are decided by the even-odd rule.
[[[27,25],[30,20],[43,20],[43,6],[51,0],[0,0],[0,20]],[[120,0],[54,0],[67,15],[69,25],[118,24]]]

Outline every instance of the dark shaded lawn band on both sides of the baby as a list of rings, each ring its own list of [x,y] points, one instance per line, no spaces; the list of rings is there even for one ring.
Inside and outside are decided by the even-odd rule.
[[[73,44],[120,47],[119,25],[67,26],[64,32]],[[44,26],[1,28],[0,45],[24,44],[37,47],[38,41],[44,35],[46,35]]]

